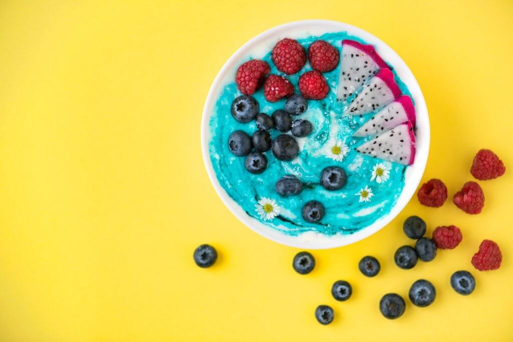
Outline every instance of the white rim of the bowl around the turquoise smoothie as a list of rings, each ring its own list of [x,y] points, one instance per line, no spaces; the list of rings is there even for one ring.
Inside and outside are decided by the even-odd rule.
[[[285,37],[302,38],[308,35],[321,35],[326,32],[340,31],[347,31],[347,33],[360,37],[369,44],[372,44],[379,55],[394,68],[394,71],[397,72],[401,80],[406,84],[411,92],[417,113],[417,154],[415,157],[415,163],[406,169],[404,188],[396,202],[396,205],[392,207],[387,215],[379,218],[372,225],[362,228],[356,233],[347,235],[336,234],[333,236],[327,236],[313,231],[306,232],[298,236],[286,235],[278,230],[266,226],[259,220],[248,216],[219,184],[218,178],[215,176],[212,168],[212,162],[208,151],[208,145],[211,137],[209,127],[210,117],[215,115],[215,102],[216,99],[219,98],[222,88],[224,85],[233,82],[236,69],[240,64],[247,61],[250,54],[255,57],[263,57],[272,49],[274,44]],[[324,20],[307,20],[288,23],[267,30],[244,44],[228,59],[221,71],[215,77],[214,83],[208,92],[201,123],[201,144],[207,173],[215,191],[217,191],[228,209],[237,218],[239,218],[242,223],[255,232],[280,244],[304,249],[325,249],[352,244],[376,233],[378,230],[386,226],[401,212],[404,206],[406,206],[413,193],[415,193],[426,167],[427,155],[429,152],[429,117],[424,96],[422,95],[422,91],[420,90],[417,80],[401,57],[399,57],[399,55],[388,45],[370,33],[348,24]]]

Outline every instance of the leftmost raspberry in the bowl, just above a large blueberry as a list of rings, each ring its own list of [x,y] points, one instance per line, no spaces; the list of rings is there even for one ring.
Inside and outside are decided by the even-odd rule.
[[[235,74],[237,88],[244,95],[253,95],[257,89],[262,87],[265,75],[270,71],[269,65],[260,59],[252,59],[242,64]]]

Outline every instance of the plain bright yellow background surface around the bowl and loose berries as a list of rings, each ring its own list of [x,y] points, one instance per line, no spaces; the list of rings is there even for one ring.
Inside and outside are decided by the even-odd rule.
[[[314,251],[318,266],[300,276],[298,250],[225,208],[200,148],[209,87],[248,39],[307,18],[368,30],[416,75],[431,120],[424,181],[442,178],[452,196],[479,148],[503,158],[506,175],[480,182],[482,214],[413,198],[379,233]],[[511,340],[512,37],[511,1],[2,1],[0,340]],[[400,270],[411,214],[428,234],[460,226],[462,244]],[[483,238],[502,248],[498,271],[470,265]],[[193,263],[201,243],[220,252],[211,269]],[[382,263],[376,278],[358,272],[366,254]],[[468,297],[449,286],[458,269],[476,276]],[[418,278],[435,303],[383,318],[380,297],[406,298]],[[354,288],[345,303],[330,295],[338,279]],[[336,311],[330,326],[319,304]]]

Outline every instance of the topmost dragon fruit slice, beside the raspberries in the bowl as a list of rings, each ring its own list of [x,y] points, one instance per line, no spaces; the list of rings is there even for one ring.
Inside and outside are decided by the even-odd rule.
[[[337,98],[345,101],[381,68],[389,67],[372,45],[344,39]]]

